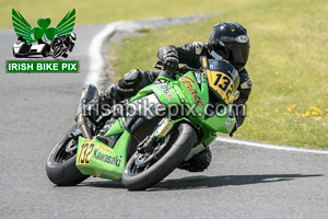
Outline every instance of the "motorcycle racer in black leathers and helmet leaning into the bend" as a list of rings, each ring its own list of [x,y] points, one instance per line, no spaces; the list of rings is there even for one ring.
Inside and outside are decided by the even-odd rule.
[[[246,28],[238,23],[222,22],[213,26],[209,42],[194,42],[177,47],[163,46],[157,57],[163,61],[163,68],[177,71],[179,64],[186,64],[192,68],[200,68],[200,56],[225,60],[236,68],[239,73],[239,97],[235,104],[245,104],[251,91],[251,80],[245,66],[249,55],[249,38]],[[114,105],[125,99],[136,95],[142,88],[153,83],[160,71],[132,69],[117,83],[112,84],[107,91],[90,102],[85,108],[92,117],[96,117],[102,105]],[[241,108],[238,108],[241,110]],[[237,124],[231,135],[244,123],[245,113],[236,112]],[[179,168],[190,172],[201,172],[210,165],[211,151],[209,147],[199,152]]]

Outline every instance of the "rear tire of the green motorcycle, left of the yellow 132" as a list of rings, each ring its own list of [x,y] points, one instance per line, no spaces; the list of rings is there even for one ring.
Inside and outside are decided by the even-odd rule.
[[[77,129],[78,125],[74,125],[66,132],[48,157],[47,175],[56,185],[73,186],[89,177],[89,175],[83,175],[75,165],[78,137],[72,138],[70,134]],[[71,143],[70,147],[69,143]]]

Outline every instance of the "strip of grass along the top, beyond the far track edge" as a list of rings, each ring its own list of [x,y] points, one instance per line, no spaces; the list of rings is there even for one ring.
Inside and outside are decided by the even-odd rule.
[[[218,12],[222,7],[230,5],[230,1],[226,0],[214,3],[212,0],[0,0],[0,28],[12,28],[12,8],[20,11],[32,26],[37,25],[38,19],[46,18],[50,18],[51,26],[55,26],[72,9],[77,10],[77,24],[79,25]],[[235,2],[243,2],[243,0]]]

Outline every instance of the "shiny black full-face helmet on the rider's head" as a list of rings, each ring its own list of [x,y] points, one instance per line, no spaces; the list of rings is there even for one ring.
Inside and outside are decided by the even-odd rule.
[[[237,23],[215,24],[209,38],[209,50],[214,58],[219,55],[238,71],[243,70],[249,54],[249,38],[246,28]]]

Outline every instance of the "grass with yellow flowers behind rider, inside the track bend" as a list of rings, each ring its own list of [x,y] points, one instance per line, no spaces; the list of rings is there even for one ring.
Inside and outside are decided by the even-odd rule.
[[[235,137],[328,149],[328,1],[248,0],[215,4],[221,15],[150,30],[142,37],[128,37],[116,45],[115,72],[152,69],[161,46],[206,42],[213,24],[238,22],[250,36],[246,67],[254,88],[248,117]]]

